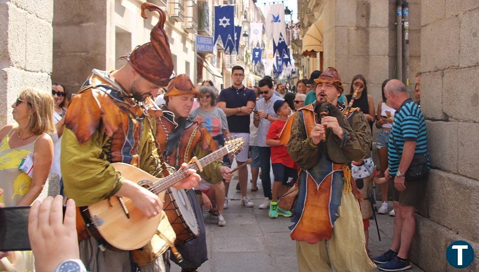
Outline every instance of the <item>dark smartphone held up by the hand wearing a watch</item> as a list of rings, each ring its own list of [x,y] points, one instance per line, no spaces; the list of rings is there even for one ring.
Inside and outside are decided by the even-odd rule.
[[[0,208],[0,251],[31,250],[29,213],[29,206]]]

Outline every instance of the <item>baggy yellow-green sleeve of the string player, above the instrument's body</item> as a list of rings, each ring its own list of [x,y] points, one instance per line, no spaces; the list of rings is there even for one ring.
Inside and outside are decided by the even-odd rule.
[[[60,165],[65,194],[73,198],[77,206],[88,206],[113,196],[122,185],[107,161],[102,146],[108,136],[96,130],[84,143],[68,128],[63,130]]]

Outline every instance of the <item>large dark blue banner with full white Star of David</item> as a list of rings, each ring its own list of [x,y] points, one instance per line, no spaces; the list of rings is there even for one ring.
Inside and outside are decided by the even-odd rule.
[[[214,42],[221,38],[223,46],[229,41],[233,42],[235,47],[235,7],[232,5],[215,6],[215,28],[214,28]]]

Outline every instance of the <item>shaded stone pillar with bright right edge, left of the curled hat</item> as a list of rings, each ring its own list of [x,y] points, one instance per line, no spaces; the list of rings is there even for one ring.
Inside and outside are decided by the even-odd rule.
[[[54,9],[52,80],[76,93],[93,68],[115,69],[115,1],[55,1]]]

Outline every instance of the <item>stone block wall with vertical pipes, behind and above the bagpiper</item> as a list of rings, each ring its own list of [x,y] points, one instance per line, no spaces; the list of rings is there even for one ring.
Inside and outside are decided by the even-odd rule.
[[[409,79],[414,88],[420,71],[421,0],[409,0]],[[326,0],[324,67],[338,69],[349,93],[353,77],[362,74],[375,104],[381,84],[396,73],[396,0]]]

